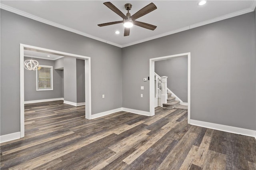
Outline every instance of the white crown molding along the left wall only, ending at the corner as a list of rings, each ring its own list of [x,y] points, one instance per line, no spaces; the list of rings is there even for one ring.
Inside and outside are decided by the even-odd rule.
[[[95,36],[92,36],[90,34],[86,34],[84,32],[81,32],[81,31],[78,31],[78,30],[75,30],[75,29],[72,29],[72,28],[69,28],[69,27],[66,27],[66,26],[63,26],[61,24],[57,24],[55,22],[51,22],[49,20],[45,20],[43,18],[40,18],[38,16],[34,16],[32,14],[29,14],[27,12],[24,12],[24,11],[21,11],[21,10],[18,10],[16,8],[12,8],[10,6],[7,6],[7,5],[4,5],[4,4],[0,4],[0,8],[3,9],[3,10],[6,10],[6,11],[9,11],[9,12],[13,12],[15,14],[18,14],[18,15],[21,15],[21,16],[24,16],[24,17],[27,17],[27,18],[30,18],[32,20],[36,20],[36,21],[39,21],[39,22],[42,22],[44,24],[48,24],[50,26],[54,26],[54,27],[57,27],[57,28],[61,28],[62,30],[66,30],[66,31],[70,31],[70,32],[74,32],[76,34],[79,34],[79,35],[82,35],[82,36],[85,36],[85,37],[88,37],[88,38],[92,38],[94,40],[98,40],[100,42],[104,42],[104,43],[108,43],[108,44],[111,44],[111,45],[114,45],[114,46],[117,46],[117,47],[122,47],[122,45],[119,45],[117,43],[114,43],[114,42],[110,42],[108,40],[104,40],[104,39],[101,39],[101,38],[98,38],[98,37],[95,37]]]

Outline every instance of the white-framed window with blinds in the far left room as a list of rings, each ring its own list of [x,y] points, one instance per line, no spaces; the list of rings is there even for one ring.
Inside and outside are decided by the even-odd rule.
[[[52,66],[40,65],[36,70],[36,91],[53,90]]]

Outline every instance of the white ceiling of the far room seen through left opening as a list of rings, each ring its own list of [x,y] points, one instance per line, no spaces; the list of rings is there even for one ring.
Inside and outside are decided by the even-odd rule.
[[[48,57],[48,55],[50,57]],[[41,58],[41,59],[49,59],[49,60],[56,60],[56,59],[64,57],[64,56],[60,56],[60,55],[42,53],[42,52],[38,52],[38,51],[30,51],[30,50],[26,50],[26,49],[24,49],[24,56],[25,57],[33,57],[33,58]]]

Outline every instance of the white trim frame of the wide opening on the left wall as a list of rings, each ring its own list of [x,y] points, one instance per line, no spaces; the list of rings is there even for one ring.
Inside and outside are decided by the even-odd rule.
[[[24,123],[24,50],[37,51],[41,53],[48,53],[53,55],[61,55],[64,57],[71,57],[84,60],[84,80],[85,80],[85,119],[92,119],[91,111],[91,61],[90,57],[83,55],[76,55],[72,53],[66,53],[62,51],[56,51],[52,49],[45,49],[41,47],[35,47],[31,45],[20,44],[20,137],[25,135],[25,123]]]

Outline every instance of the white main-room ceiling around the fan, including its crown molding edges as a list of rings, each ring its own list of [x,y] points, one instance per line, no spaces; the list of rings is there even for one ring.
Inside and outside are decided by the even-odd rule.
[[[208,0],[204,6],[197,5],[199,0],[112,0],[110,2],[124,14],[127,12],[124,4],[132,4],[131,15],[151,2],[157,6],[156,10],[137,19],[157,26],[156,30],[133,26],[130,29],[130,36],[124,37],[122,24],[97,26],[97,24],[122,20],[103,2],[107,0],[1,0],[1,8],[118,47],[126,47],[252,12],[256,6],[255,0]],[[115,34],[116,30],[120,31],[120,34]]]

